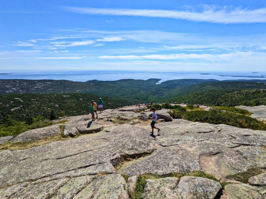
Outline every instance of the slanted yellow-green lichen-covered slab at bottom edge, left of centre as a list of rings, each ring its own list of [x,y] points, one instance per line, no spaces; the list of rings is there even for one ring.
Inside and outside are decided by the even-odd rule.
[[[94,179],[95,176],[82,176],[69,180],[58,190],[55,199],[72,199]]]

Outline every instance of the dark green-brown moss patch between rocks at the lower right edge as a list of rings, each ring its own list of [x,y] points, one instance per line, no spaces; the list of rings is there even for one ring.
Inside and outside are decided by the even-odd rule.
[[[238,174],[235,174],[235,175],[228,175],[226,177],[228,179],[231,179],[231,180],[236,180],[236,181],[239,181],[239,182],[248,183],[248,180],[249,180],[250,177],[255,176],[255,175],[259,175],[259,174],[262,174],[262,173],[264,173],[262,169],[250,168],[250,169],[248,169],[245,172],[238,173]]]

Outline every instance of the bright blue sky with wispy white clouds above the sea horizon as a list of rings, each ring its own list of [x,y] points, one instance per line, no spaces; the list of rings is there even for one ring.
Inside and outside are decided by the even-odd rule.
[[[0,69],[266,69],[266,1],[0,1]]]

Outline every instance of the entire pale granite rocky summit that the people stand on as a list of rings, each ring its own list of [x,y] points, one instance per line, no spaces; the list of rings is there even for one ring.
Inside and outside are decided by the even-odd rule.
[[[0,198],[126,199],[135,192],[151,199],[266,198],[265,131],[173,119],[168,111],[157,111],[161,130],[154,135],[150,109],[128,106],[104,110],[95,121],[74,116],[1,138],[23,143],[69,137],[1,151]],[[260,173],[241,180],[254,169]]]

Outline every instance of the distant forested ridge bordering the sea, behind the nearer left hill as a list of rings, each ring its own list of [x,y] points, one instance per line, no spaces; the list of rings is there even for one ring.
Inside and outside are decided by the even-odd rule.
[[[116,81],[90,80],[87,82],[73,82],[69,80],[22,80],[22,79],[0,79],[0,94],[9,93],[96,93],[106,96],[122,96],[125,94],[138,93],[160,88],[180,88],[194,85],[205,81],[201,79],[170,80],[162,84],[156,84],[160,79],[134,80],[122,79]],[[97,90],[97,91],[95,91]]]

